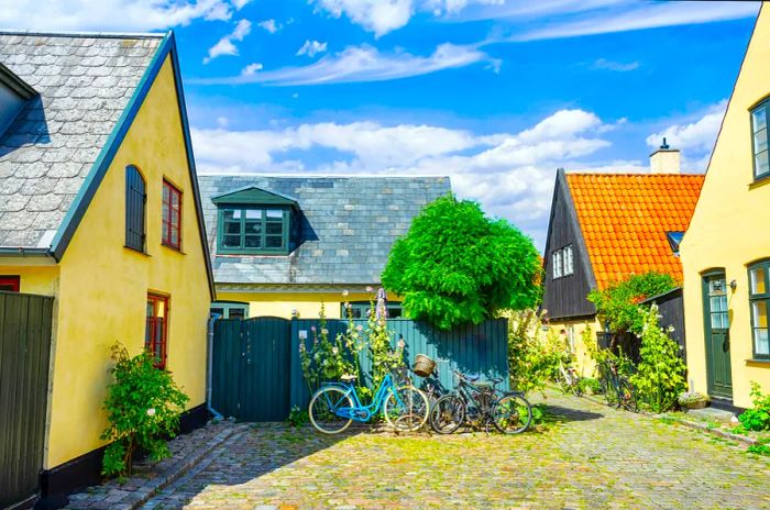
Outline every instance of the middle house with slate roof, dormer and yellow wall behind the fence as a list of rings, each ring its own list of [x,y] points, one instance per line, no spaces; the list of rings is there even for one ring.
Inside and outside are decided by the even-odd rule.
[[[391,246],[451,191],[448,177],[201,175],[209,248],[224,318],[365,317]],[[399,299],[388,297],[391,317]]]

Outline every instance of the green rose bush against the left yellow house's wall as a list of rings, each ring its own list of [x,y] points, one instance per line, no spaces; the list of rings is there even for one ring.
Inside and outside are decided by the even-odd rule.
[[[110,373],[116,380],[108,386],[103,406],[110,425],[101,434],[111,444],[105,451],[101,473],[123,476],[131,474],[131,461],[138,448],[146,452],[153,462],[170,456],[166,439],[176,435],[179,414],[189,398],[176,386],[169,372],[155,368],[151,353],[131,357],[117,343],[111,357],[116,366]]]

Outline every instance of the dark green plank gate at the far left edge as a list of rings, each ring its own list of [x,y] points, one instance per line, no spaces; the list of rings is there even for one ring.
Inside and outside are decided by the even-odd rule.
[[[0,508],[38,492],[53,303],[0,291]]]

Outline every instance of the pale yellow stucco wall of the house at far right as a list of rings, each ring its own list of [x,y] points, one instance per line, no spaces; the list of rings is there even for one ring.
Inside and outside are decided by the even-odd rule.
[[[723,268],[728,289],[733,399],[750,407],[749,384],[770,392],[770,364],[750,363],[747,265],[770,257],[770,182],[754,185],[749,109],[770,95],[770,10],[762,7],[725,114],[701,197],[681,244],[689,378],[707,391],[702,274]]]

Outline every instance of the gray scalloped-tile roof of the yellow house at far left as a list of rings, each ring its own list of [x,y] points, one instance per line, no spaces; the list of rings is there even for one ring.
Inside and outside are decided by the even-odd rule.
[[[51,244],[162,37],[0,32],[40,95],[0,138],[0,247]]]

